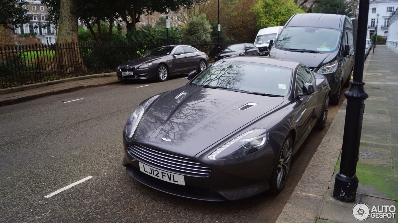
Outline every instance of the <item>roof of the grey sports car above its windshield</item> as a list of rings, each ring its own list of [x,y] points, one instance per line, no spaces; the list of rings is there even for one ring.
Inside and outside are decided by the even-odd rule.
[[[251,63],[263,63],[267,65],[274,65],[279,67],[287,67],[290,69],[295,69],[298,65],[304,65],[303,63],[286,60],[275,57],[265,57],[265,56],[238,56],[238,57],[227,57],[222,59],[221,61],[230,61],[230,62],[251,62]]]

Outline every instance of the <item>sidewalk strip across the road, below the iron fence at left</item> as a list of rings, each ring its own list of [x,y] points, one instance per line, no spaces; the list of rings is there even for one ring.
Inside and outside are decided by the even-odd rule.
[[[121,81],[117,80],[116,73],[103,73],[0,89],[0,106],[23,102],[51,94],[60,94],[88,87],[99,87],[117,83],[121,83]]]

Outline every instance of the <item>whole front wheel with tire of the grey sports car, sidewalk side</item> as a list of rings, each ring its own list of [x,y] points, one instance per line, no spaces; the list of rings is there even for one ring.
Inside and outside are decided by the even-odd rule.
[[[269,190],[272,194],[279,194],[286,183],[290,163],[293,156],[293,139],[290,133],[283,141],[282,148],[277,157],[277,162],[269,180]]]

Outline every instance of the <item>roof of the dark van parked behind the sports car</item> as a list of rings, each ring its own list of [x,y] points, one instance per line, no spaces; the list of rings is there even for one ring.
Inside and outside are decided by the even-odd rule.
[[[345,15],[323,13],[299,13],[293,15],[285,27],[320,27],[340,30],[341,18]]]

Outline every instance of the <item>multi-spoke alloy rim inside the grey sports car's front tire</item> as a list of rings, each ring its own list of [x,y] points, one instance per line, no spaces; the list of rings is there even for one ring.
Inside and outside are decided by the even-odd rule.
[[[285,185],[287,173],[289,172],[290,162],[292,158],[293,142],[291,138],[288,138],[283,145],[281,158],[278,161],[278,172],[277,172],[277,188],[281,189]]]

